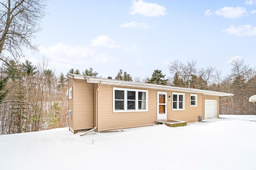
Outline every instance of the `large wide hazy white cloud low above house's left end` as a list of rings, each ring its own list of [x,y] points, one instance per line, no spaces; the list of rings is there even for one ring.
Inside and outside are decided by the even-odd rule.
[[[63,43],[52,45],[48,48],[40,46],[40,52],[50,57],[50,64],[58,69],[73,68],[75,65],[89,65],[104,63],[112,60],[112,57],[104,53],[96,54],[90,47],[70,46]]]

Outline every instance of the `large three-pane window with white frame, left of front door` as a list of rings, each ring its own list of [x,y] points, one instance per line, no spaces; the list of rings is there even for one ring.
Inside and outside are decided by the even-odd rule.
[[[113,87],[113,112],[148,111],[148,91]]]

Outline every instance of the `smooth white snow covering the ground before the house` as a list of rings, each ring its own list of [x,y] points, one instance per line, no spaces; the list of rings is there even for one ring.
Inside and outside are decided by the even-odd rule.
[[[255,170],[256,116],[72,134],[68,128],[0,136],[0,170]]]

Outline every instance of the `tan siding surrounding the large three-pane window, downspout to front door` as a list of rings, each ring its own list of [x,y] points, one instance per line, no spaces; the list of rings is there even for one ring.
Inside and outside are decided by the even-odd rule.
[[[148,90],[148,101],[147,112],[113,113],[113,86],[102,85],[99,89],[98,131],[152,125],[156,121],[156,90]]]

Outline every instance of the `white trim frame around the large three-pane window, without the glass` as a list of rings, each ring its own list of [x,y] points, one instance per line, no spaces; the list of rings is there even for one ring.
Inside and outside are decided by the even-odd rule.
[[[115,110],[115,90],[124,91],[124,110]],[[127,109],[127,91],[135,91],[136,100],[135,100],[135,110]],[[146,109],[138,109],[138,92],[146,92]],[[113,113],[120,112],[147,112],[148,111],[148,90],[140,90],[140,89],[127,89],[127,88],[119,88],[113,87]]]

